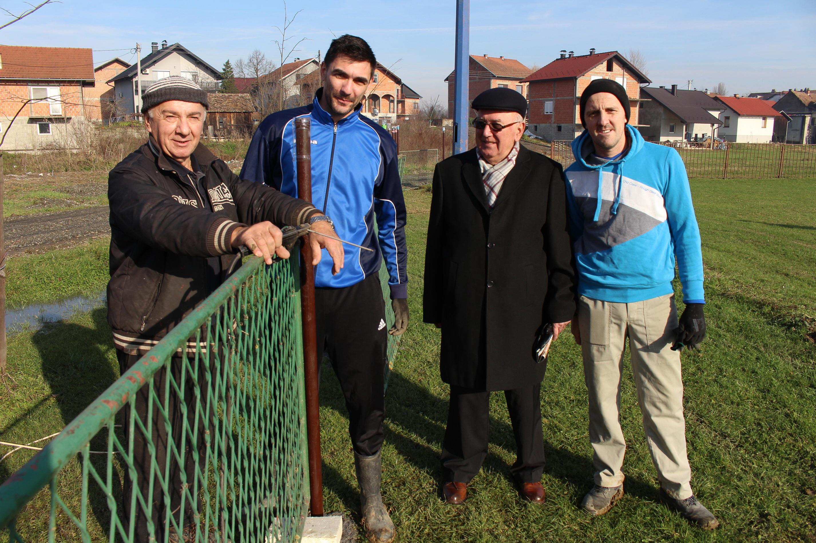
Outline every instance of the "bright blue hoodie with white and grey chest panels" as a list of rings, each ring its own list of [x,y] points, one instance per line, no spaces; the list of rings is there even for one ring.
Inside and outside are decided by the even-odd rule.
[[[675,255],[686,303],[705,303],[703,252],[685,164],[672,147],[645,142],[626,125],[629,150],[603,165],[584,130],[565,171],[578,292],[636,302],[674,291]],[[598,195],[601,198],[598,198]]]

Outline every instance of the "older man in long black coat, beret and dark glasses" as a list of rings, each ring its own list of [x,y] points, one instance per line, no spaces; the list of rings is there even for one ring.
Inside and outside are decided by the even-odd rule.
[[[486,90],[473,100],[476,148],[437,164],[425,254],[424,322],[441,328],[450,384],[442,492],[461,503],[487,455],[488,400],[504,391],[516,436],[519,492],[544,501],[536,332],[553,340],[574,313],[574,267],[561,165],[520,147],[526,99]]]

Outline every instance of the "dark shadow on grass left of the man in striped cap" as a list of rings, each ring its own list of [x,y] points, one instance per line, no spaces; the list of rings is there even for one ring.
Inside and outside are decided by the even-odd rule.
[[[117,378],[110,359],[113,335],[104,307],[91,311],[93,326],[58,321],[43,326],[32,336],[42,360],[42,376],[51,388],[62,415],[63,426],[82,413]],[[107,450],[107,430],[91,440],[91,450]],[[104,479],[107,455],[92,454],[91,465]],[[108,532],[110,510],[102,488],[92,480],[88,484],[88,504],[104,532]],[[79,484],[79,482],[77,482]],[[113,494],[119,499],[122,484],[118,471],[113,470]]]

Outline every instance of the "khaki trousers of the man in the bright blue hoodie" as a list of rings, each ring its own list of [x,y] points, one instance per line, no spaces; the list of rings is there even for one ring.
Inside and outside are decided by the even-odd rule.
[[[690,497],[680,353],[671,350],[677,327],[674,295],[631,304],[581,296],[578,320],[595,483],[623,484],[626,441],[620,427],[620,381],[628,336],[637,402],[660,484],[676,499]]]

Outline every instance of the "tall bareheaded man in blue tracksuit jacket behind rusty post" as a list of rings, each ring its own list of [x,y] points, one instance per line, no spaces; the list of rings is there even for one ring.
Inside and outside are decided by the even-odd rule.
[[[312,199],[325,213],[313,221],[331,217],[341,239],[374,250],[347,245],[338,274],[332,274],[330,264],[317,265],[315,302],[317,345],[329,353],[348,408],[364,528],[370,541],[379,542],[394,536],[379,493],[386,334],[400,335],[408,326],[408,277],[397,146],[384,129],[359,114],[376,64],[360,37],[347,34],[332,41],[321,65],[323,87],[313,103],[264,119],[241,178],[297,196],[295,118],[310,117]],[[383,260],[396,314],[389,331],[378,277]]]

